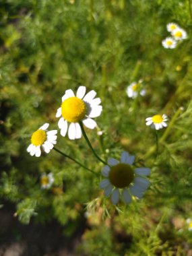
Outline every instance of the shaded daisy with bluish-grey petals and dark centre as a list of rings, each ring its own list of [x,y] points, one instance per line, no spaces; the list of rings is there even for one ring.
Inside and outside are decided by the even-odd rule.
[[[120,195],[125,203],[131,203],[132,196],[141,198],[150,185],[146,179],[146,176],[150,175],[150,168],[134,168],[134,160],[135,156],[122,152],[120,162],[110,158],[108,165],[102,169],[102,175],[106,179],[100,182],[100,188],[104,189],[106,197],[111,195],[113,204],[119,202]]]

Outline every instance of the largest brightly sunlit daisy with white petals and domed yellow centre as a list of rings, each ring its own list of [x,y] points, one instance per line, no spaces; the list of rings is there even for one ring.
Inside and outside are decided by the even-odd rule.
[[[56,117],[61,117],[58,126],[63,137],[65,137],[68,129],[69,139],[80,139],[82,129],[79,121],[82,121],[90,129],[96,127],[96,121],[92,118],[100,116],[102,106],[100,106],[100,98],[95,98],[95,96],[94,90],[86,94],[85,86],[79,86],[76,96],[71,89],[65,91],[61,107],[58,108],[56,114]]]

